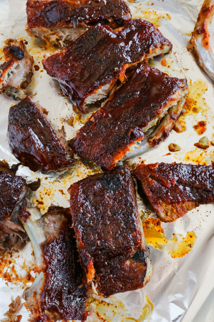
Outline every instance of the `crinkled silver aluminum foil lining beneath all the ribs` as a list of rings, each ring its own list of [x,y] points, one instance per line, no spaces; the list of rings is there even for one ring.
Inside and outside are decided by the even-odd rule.
[[[204,135],[213,139],[213,83],[198,66],[192,53],[187,50],[188,41],[202,3],[203,0],[142,0],[130,3],[133,17],[142,17],[155,23],[173,44],[172,53],[165,57],[167,66],[164,67],[160,63],[163,57],[155,58],[151,63],[172,76],[186,77],[191,95],[194,94],[194,97],[197,96],[194,92],[198,91],[199,93],[200,90],[205,92],[204,94],[199,93],[199,99],[196,100],[199,113],[189,114],[185,117],[186,130],[184,132],[172,131],[170,136],[158,147],[142,154],[141,159],[139,156],[133,158],[130,160],[132,163],[138,164],[144,160],[145,163],[175,161],[211,164],[214,147],[210,146],[206,151],[199,151],[199,149],[195,149],[193,144]],[[32,94],[35,94],[33,100],[39,101],[47,109],[48,119],[56,129],[61,129],[64,126],[66,138],[71,139],[84,123],[85,117],[78,117],[71,102],[59,93],[58,83],[51,79],[42,68],[43,55],[49,55],[56,50],[48,48],[46,51],[43,43],[31,39],[26,33],[26,0],[0,0],[0,4],[0,47],[3,48],[4,40],[7,38],[22,38],[28,42],[27,48],[34,57],[34,64],[40,67],[39,71],[34,72],[30,85]],[[207,90],[205,91],[205,89]],[[1,96],[0,98],[0,159],[6,160],[10,165],[18,163],[10,153],[6,142],[8,112],[14,103],[13,100],[6,97]],[[71,119],[74,119],[72,126],[69,125]],[[207,121],[207,130],[199,136],[193,129],[193,125],[201,120]],[[169,154],[167,147],[170,143],[179,144],[181,150]],[[34,193],[31,203],[38,205],[41,211],[45,212],[51,203],[69,206],[67,188],[73,182],[97,171],[101,171],[98,166],[92,163],[88,165],[78,160],[71,169],[64,171],[64,173],[33,173],[29,168],[20,166],[17,174],[25,177],[28,182],[41,179],[41,186]],[[146,213],[147,209],[142,201],[139,200],[138,205],[139,210]],[[94,312],[88,320],[99,321],[96,310],[100,309],[102,312],[105,311],[107,321],[214,321],[213,211],[213,204],[201,205],[174,223],[162,224],[167,238],[170,238],[172,233],[180,233],[185,236],[188,231],[194,231],[197,239],[193,249],[184,257],[173,259],[166,251],[150,247],[150,259],[154,267],[150,282],[143,289],[116,294],[106,299],[106,302],[112,303],[114,314],[111,305],[96,308],[96,304],[91,303],[90,308]],[[155,217],[153,213],[151,215]],[[23,263],[25,262],[25,267],[28,268],[32,268],[34,265],[31,244],[28,243],[19,255],[15,258],[14,266],[18,275],[24,276]],[[22,292],[22,283],[14,285],[0,279],[0,318],[7,311],[11,297],[21,296]],[[152,305],[146,304],[148,298],[153,302],[154,308]],[[148,314],[145,317],[143,315],[140,317],[142,308],[145,310],[148,308]],[[29,312],[24,307],[20,314],[22,321],[27,321]]]

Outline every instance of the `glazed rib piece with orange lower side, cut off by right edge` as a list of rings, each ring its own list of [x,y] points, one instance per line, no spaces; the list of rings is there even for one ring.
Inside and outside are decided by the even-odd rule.
[[[175,221],[200,204],[214,202],[212,166],[141,163],[133,174],[141,181],[143,190],[161,221]]]

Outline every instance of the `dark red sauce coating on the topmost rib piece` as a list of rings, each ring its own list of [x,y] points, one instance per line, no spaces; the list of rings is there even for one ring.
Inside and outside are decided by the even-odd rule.
[[[27,1],[28,28],[87,27],[110,19],[113,26],[131,18],[129,6],[123,0],[45,0]]]

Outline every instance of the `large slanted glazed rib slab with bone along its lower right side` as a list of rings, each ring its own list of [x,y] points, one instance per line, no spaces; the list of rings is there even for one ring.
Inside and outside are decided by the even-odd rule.
[[[76,152],[109,170],[129,157],[132,145],[150,137],[161,119],[164,125],[166,118],[171,122],[159,130],[162,136],[150,137],[150,147],[168,137],[180,115],[180,101],[188,93],[186,79],[169,77],[144,63],[132,69],[128,80],[92,114],[73,141]]]

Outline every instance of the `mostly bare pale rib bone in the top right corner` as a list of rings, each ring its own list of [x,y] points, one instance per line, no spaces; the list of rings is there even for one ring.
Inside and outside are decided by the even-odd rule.
[[[205,0],[189,42],[189,48],[195,53],[199,65],[212,80],[214,80],[214,54],[211,43],[213,13],[214,0]]]

